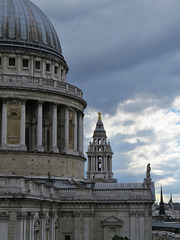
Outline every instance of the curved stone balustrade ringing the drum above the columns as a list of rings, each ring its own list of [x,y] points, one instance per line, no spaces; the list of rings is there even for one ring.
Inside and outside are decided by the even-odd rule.
[[[83,97],[82,91],[71,84],[41,77],[0,74],[0,87],[1,86],[11,88],[21,87],[21,89],[41,89],[57,93],[70,94],[79,98]]]

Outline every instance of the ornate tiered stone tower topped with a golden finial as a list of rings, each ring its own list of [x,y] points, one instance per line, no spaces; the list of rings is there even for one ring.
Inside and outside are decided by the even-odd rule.
[[[89,143],[87,180],[93,182],[114,182],[112,172],[111,146],[107,142],[106,131],[104,130],[101,113],[93,134],[93,142]]]

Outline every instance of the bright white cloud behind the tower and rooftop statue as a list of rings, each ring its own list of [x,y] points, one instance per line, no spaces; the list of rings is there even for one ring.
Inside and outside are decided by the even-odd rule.
[[[177,168],[180,163],[180,125],[177,124],[180,121],[179,99],[176,98],[172,106],[166,109],[160,108],[157,100],[139,97],[120,103],[114,115],[102,113],[112,149],[116,146],[113,160],[116,178],[122,180],[121,176],[126,174],[130,181],[132,176],[137,176],[137,181],[143,181],[146,165],[150,162],[156,187],[170,187],[180,181]],[[98,110],[88,108],[85,114],[86,141],[91,140],[97,119]],[[123,144],[129,144],[132,148],[124,150]],[[121,165],[124,168],[117,169],[119,162],[124,161],[118,159],[122,152],[130,161]]]

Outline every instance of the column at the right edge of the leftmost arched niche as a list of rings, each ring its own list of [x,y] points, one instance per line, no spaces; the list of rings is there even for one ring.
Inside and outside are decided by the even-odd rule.
[[[21,130],[20,130],[20,149],[26,151],[25,145],[25,130],[26,130],[26,102],[21,102]]]

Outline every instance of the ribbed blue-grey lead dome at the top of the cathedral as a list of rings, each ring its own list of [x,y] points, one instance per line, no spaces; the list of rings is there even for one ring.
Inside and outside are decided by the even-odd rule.
[[[52,23],[29,0],[0,0],[0,47],[10,47],[12,44],[63,58]]]

